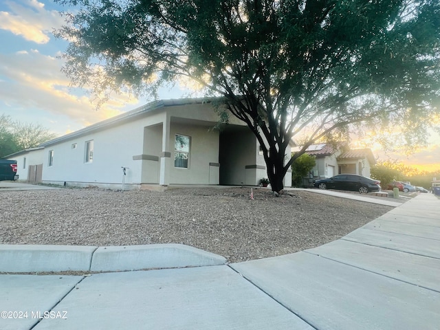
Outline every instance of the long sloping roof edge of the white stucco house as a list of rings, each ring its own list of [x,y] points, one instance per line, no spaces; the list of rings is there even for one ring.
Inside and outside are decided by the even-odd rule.
[[[170,100],[157,100],[142,105],[142,107],[137,107],[136,109],[133,109],[131,111],[126,111],[120,115],[115,115],[115,117],[109,118],[107,120],[102,120],[100,122],[97,122],[96,124],[91,124],[90,126],[87,126],[84,129],[74,131],[72,133],[63,135],[61,137],[56,137],[55,139],[47,141],[41,144],[40,146],[43,147],[50,146],[51,144],[56,144],[58,142],[69,140],[74,137],[84,135],[86,133],[98,131],[100,129],[105,129],[108,128],[109,126],[120,124],[122,122],[126,122],[129,120],[133,120],[134,118],[140,115],[144,115],[145,113],[163,109],[164,107],[172,107],[172,106],[185,105],[185,104],[203,104],[210,102],[212,102],[212,99],[210,98],[179,98],[179,99],[170,99]]]

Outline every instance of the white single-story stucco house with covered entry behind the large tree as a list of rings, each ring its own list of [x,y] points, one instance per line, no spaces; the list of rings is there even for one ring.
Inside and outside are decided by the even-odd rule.
[[[127,188],[258,185],[267,173],[256,137],[233,116],[213,129],[218,118],[207,99],[160,100],[8,159],[20,179],[46,184],[120,188],[124,167]]]

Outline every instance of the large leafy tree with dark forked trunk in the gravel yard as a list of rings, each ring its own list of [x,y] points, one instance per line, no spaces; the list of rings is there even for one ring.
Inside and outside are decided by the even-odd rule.
[[[74,85],[154,94],[194,80],[223,96],[223,121],[232,113],[248,124],[277,192],[322,137],[360,122],[421,133],[439,111],[438,0],[58,2],[76,6],[57,32],[70,41]],[[298,136],[303,148],[290,157]]]

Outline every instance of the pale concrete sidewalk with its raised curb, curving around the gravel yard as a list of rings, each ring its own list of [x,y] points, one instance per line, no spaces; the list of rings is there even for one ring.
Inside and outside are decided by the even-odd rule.
[[[0,329],[439,329],[440,200],[245,263],[177,244],[0,245],[0,272],[21,273],[0,275]]]

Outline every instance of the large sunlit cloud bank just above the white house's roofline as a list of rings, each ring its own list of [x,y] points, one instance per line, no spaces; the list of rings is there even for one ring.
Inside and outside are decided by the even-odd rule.
[[[119,94],[96,111],[83,90],[69,88],[69,80],[60,69],[63,60],[43,55],[37,50],[0,54],[0,63],[0,76],[3,78],[0,81],[0,100],[12,107],[63,115],[81,126],[87,126],[121,113],[127,104],[137,103],[137,99]]]

